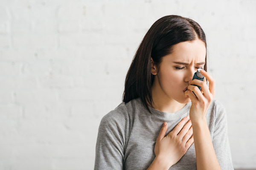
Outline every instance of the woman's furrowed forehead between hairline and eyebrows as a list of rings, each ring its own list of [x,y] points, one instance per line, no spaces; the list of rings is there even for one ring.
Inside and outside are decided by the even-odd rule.
[[[163,57],[167,61],[204,62],[206,47],[203,41],[185,41],[173,46],[172,53]]]

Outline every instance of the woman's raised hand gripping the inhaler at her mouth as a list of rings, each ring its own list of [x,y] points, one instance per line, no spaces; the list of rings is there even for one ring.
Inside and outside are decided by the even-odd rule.
[[[204,81],[193,79],[189,82],[188,90],[185,91],[185,95],[189,96],[192,103],[189,112],[189,117],[192,122],[205,119],[207,109],[215,96],[215,80],[206,71],[201,70],[201,74],[204,76]],[[209,88],[206,79],[209,81]],[[195,85],[200,86],[201,91]],[[193,94],[192,91],[195,94]]]

